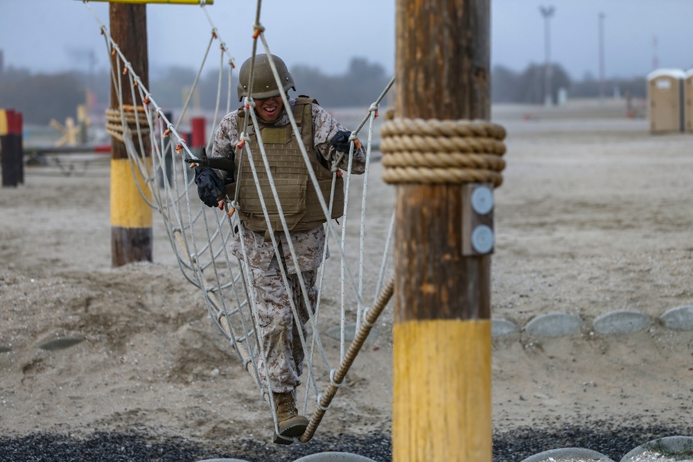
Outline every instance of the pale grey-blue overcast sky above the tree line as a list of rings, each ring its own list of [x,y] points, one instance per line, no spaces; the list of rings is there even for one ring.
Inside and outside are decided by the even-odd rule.
[[[0,0],[0,49],[6,66],[33,72],[89,70],[107,55],[98,24],[79,0]],[[89,3],[108,26],[108,4]],[[599,75],[599,14],[604,14],[607,77],[646,75],[656,64],[693,67],[691,0],[491,0],[491,62],[521,71],[544,61],[540,7],[554,6],[551,58],[574,79]],[[256,2],[215,0],[207,6],[220,37],[240,65],[252,51]],[[261,23],[272,53],[324,73],[342,73],[352,56],[394,72],[394,0],[264,0]],[[171,65],[198,68],[211,26],[200,6],[147,7],[152,71]],[[213,48],[218,62],[218,45]]]

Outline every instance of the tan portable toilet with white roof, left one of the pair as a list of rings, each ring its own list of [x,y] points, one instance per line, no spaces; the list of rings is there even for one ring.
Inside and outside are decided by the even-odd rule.
[[[658,69],[647,75],[650,132],[683,131],[683,80],[681,69]]]

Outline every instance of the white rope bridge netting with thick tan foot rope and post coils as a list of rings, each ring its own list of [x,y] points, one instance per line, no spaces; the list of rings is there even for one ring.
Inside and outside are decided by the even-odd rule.
[[[227,89],[226,89],[226,105],[223,114],[227,114],[231,109],[231,80],[232,69],[234,69],[234,58],[229,55],[228,48],[225,42],[222,41],[218,33],[218,29],[214,26],[204,3],[200,2],[200,8],[207,15],[211,26],[211,37],[202,64],[195,78],[195,82],[191,86],[190,92],[184,103],[182,114],[174,124],[166,118],[164,110],[157,104],[154,96],[150,91],[142,85],[141,79],[133,71],[132,64],[128,62],[127,57],[123,55],[118,44],[114,42],[109,35],[107,28],[101,23],[94,10],[89,6],[88,0],[83,0],[83,3],[99,25],[101,34],[105,37],[105,48],[109,55],[114,56],[114,66],[111,69],[112,83],[118,89],[119,95],[119,110],[109,109],[106,112],[107,132],[114,139],[125,144],[128,152],[128,159],[132,166],[132,175],[137,179],[137,189],[143,200],[152,209],[157,211],[164,221],[168,240],[173,249],[177,264],[186,280],[198,287],[204,299],[205,307],[209,317],[216,324],[222,335],[224,335],[232,348],[236,352],[236,356],[242,362],[244,368],[253,378],[258,392],[263,399],[270,402],[270,409],[274,418],[274,429],[279,434],[277,425],[277,415],[274,411],[274,403],[272,402],[272,393],[264,389],[258,375],[258,355],[263,355],[263,346],[257,341],[254,325],[258,323],[256,310],[252,306],[253,297],[249,291],[252,287],[249,281],[252,281],[250,276],[250,268],[245,264],[244,260],[233,258],[227,251],[228,243],[235,235],[234,229],[238,225],[238,214],[234,214],[234,210],[238,208],[235,202],[227,200],[220,202],[218,209],[211,209],[203,206],[198,197],[193,196],[191,199],[190,188],[193,186],[193,177],[189,175],[190,169],[184,162],[184,159],[196,159],[202,162],[202,159],[193,154],[191,149],[186,144],[184,136],[178,132],[179,125],[184,119],[184,114],[188,109],[188,105],[193,95],[198,79],[202,73],[205,62],[209,55],[209,51],[214,41],[219,40],[220,47],[220,66],[218,72],[218,91],[216,98],[216,107],[214,112],[213,126],[216,127],[218,122],[218,114],[220,114],[220,105],[222,101],[222,82],[225,77],[225,67],[227,69]],[[289,107],[288,96],[283,91],[283,86],[277,73],[277,68],[272,62],[270,47],[265,40],[265,28],[260,23],[261,1],[257,2],[256,20],[253,24],[253,42],[252,56],[256,55],[258,39],[261,42],[265,53],[270,57],[270,66],[274,74],[275,80],[278,82],[281,98],[285,107]],[[254,63],[253,63],[254,64]],[[254,73],[251,71],[250,75]],[[368,123],[367,143],[366,143],[366,170],[363,179],[362,202],[360,211],[360,238],[358,242],[358,265],[354,265],[350,258],[347,258],[347,249],[351,249],[353,244],[347,245],[347,225],[349,215],[347,213],[349,206],[349,184],[351,175],[349,170],[344,174],[344,184],[346,185],[345,197],[347,201],[344,204],[344,217],[341,224],[341,233],[337,231],[337,227],[330,220],[331,204],[328,204],[318,195],[323,211],[328,217],[326,231],[335,242],[338,242],[338,253],[340,256],[340,283],[341,283],[341,303],[340,303],[340,357],[338,366],[333,366],[328,359],[320,338],[320,330],[318,320],[321,308],[321,298],[323,293],[324,276],[326,259],[323,258],[322,267],[319,269],[319,284],[318,297],[315,313],[310,313],[310,326],[313,331],[313,336],[310,341],[301,335],[299,329],[299,337],[301,346],[305,352],[305,365],[307,368],[306,386],[304,387],[304,398],[302,401],[302,414],[306,414],[308,402],[315,400],[315,411],[306,432],[299,438],[295,438],[300,443],[307,443],[313,438],[319,423],[321,422],[326,410],[330,407],[331,401],[335,397],[340,385],[344,382],[344,378],[349,371],[349,367],[353,364],[356,355],[368,337],[371,328],[376,323],[378,316],[383,312],[385,305],[392,297],[394,292],[394,278],[389,278],[385,282],[386,274],[392,274],[392,267],[389,266],[389,249],[392,247],[392,236],[394,234],[394,215],[390,222],[389,231],[385,240],[383,249],[383,257],[381,259],[378,277],[375,279],[375,287],[373,294],[373,302],[370,308],[365,303],[365,249],[368,245],[365,241],[365,222],[367,211],[367,185],[369,180],[369,166],[371,164],[371,148],[372,137],[374,130],[374,121],[378,116],[378,107],[380,102],[385,98],[387,91],[392,87],[394,79],[389,82],[389,85],[383,90],[383,93],[378,96],[373,104],[367,109],[367,114],[364,116],[356,130],[351,134],[351,149],[349,152],[349,170],[351,168],[351,156],[353,156],[354,142],[360,130]],[[252,81],[249,88],[252,89]],[[128,106],[123,105],[123,92],[129,91],[132,94],[132,100],[141,102],[141,105]],[[245,98],[245,107],[249,109],[254,107],[252,94]],[[247,111],[252,117],[253,122],[257,124],[254,111]],[[292,130],[301,140],[301,134],[297,123],[288,111]],[[243,126],[242,140],[247,140],[247,118]],[[505,138],[505,130],[499,125],[487,123],[485,121],[424,121],[421,119],[394,119],[387,121],[381,130],[383,136],[380,150],[383,152],[382,163],[385,168],[383,180],[390,184],[398,183],[472,183],[482,182],[500,186],[502,177],[500,172],[505,167],[505,161],[502,159],[502,154],[505,153],[505,145],[502,140]],[[151,143],[151,152],[145,152],[143,146],[144,141],[148,140]],[[209,137],[207,150],[211,148],[212,136]],[[265,151],[261,137],[258,137],[260,143],[260,156],[263,161],[266,161]],[[239,143],[238,148],[243,150],[243,153],[248,159],[252,159],[258,153],[251,152],[249,143]],[[315,172],[308,158],[305,146],[301,148],[301,154],[304,156],[310,179],[313,185],[319,190]],[[170,162],[174,174],[168,178],[165,174],[166,157],[170,156]],[[150,158],[150,159],[149,159]],[[335,165],[340,163],[341,159],[335,162]],[[253,166],[253,174],[256,177]],[[333,172],[333,190],[337,172]],[[256,177],[257,178],[257,177]],[[159,179],[159,181],[157,181]],[[163,181],[161,181],[163,179]],[[237,184],[239,181],[237,180]],[[259,186],[258,186],[259,188]],[[238,197],[238,194],[236,194]],[[262,195],[261,195],[262,197]],[[270,198],[267,198],[270,199]],[[281,208],[277,190],[273,189],[273,197],[277,207]],[[267,217],[267,208],[263,201],[263,211]],[[279,259],[279,249],[277,240],[274,237],[274,229],[272,224],[267,223],[272,236],[272,244],[275,255]],[[288,237],[288,228],[286,222],[282,220],[284,233]],[[243,240],[241,240],[243,242]],[[291,242],[288,239],[288,242]],[[327,249],[327,245],[325,249]],[[245,253],[245,249],[244,249]],[[294,249],[290,248],[290,254],[297,263],[297,256]],[[280,265],[281,266],[281,265]],[[353,268],[356,266],[356,268]],[[282,268],[282,277],[286,283],[286,272]],[[354,276],[357,274],[358,276]],[[306,297],[307,290],[305,281],[298,272],[299,285],[301,292]],[[358,278],[358,281],[357,281]],[[351,287],[351,296],[356,300],[356,312],[353,309],[347,308],[347,285]],[[372,283],[371,283],[372,285]],[[293,304],[292,297],[289,297]],[[310,310],[308,310],[310,312]],[[292,305],[292,312],[297,322],[299,317],[296,307]],[[347,326],[347,314],[350,318],[356,321],[356,338],[351,342],[348,349],[345,349],[345,337]],[[316,362],[322,363],[325,368],[324,373],[317,371]],[[267,375],[268,371],[265,371]],[[319,384],[327,383],[326,390],[321,393]]]

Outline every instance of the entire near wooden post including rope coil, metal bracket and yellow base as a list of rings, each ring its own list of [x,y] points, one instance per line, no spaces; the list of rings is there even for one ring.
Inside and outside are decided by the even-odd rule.
[[[396,2],[395,117],[381,150],[383,179],[397,185],[397,462],[491,461],[490,254],[505,132],[484,122],[489,1]]]

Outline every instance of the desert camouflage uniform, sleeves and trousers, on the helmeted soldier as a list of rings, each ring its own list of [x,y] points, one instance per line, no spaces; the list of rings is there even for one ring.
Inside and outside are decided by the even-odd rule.
[[[292,112],[295,99],[290,98],[290,108],[284,108],[283,113],[274,125],[289,123],[287,110]],[[312,105],[313,114],[313,152],[326,160],[337,159],[339,153],[331,146],[331,140],[337,132],[347,130],[317,104]],[[238,111],[227,114],[219,124],[214,134],[212,157],[229,157],[234,152],[239,140],[239,129],[243,128],[243,119],[238,117]],[[309,150],[310,154],[310,150]],[[349,156],[344,156],[340,168],[347,169]],[[365,170],[365,151],[355,148],[351,172],[361,174]],[[226,172],[216,170],[223,180]],[[277,231],[277,230],[274,230]],[[259,374],[265,385],[267,382],[275,393],[287,393],[300,384],[299,375],[303,372],[304,351],[301,346],[298,329],[306,335],[305,324],[309,319],[308,309],[315,311],[317,301],[317,268],[322,263],[324,245],[326,245],[325,230],[322,226],[307,231],[291,231],[291,243],[297,255],[298,267],[294,265],[288,242],[283,231],[275,232],[279,242],[280,259],[274,254],[271,240],[265,240],[265,234],[251,231],[241,223],[238,233],[231,242],[231,253],[243,259],[243,249],[247,253],[247,264],[252,267],[254,290],[252,296],[256,303],[260,325],[259,338],[263,341],[270,380],[265,375],[265,362],[258,362]],[[329,256],[329,255],[328,255]],[[279,265],[286,268],[290,287],[284,287]],[[310,307],[306,307],[304,296],[301,294],[298,272],[301,272],[308,290]],[[291,310],[289,297],[292,297],[301,320],[297,326]]]

